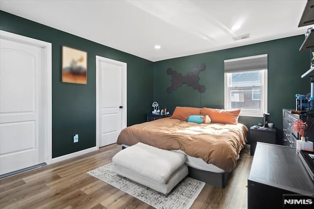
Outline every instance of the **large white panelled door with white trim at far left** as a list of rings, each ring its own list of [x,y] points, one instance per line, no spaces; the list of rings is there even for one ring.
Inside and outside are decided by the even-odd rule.
[[[0,38],[0,174],[44,163],[47,147],[46,49]],[[51,73],[51,71],[50,71]],[[51,83],[50,83],[51,84]],[[51,155],[51,152],[50,152]],[[51,159],[51,156],[50,156]],[[49,163],[48,163],[49,164]]]

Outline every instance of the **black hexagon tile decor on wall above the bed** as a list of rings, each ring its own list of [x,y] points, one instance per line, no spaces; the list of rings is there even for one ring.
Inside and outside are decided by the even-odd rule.
[[[192,71],[188,72],[186,76],[183,76],[181,73],[177,73],[177,71],[172,70],[171,68],[167,69],[167,74],[171,75],[171,83],[170,87],[167,87],[167,93],[171,94],[178,87],[182,86],[183,83],[186,83],[187,86],[193,87],[193,89],[198,90],[200,93],[204,93],[206,91],[205,85],[199,84],[199,73],[200,71],[205,71],[206,65],[201,63],[197,68],[193,68]]]

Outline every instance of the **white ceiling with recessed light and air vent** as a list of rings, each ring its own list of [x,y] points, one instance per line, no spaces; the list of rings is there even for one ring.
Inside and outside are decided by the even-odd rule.
[[[304,34],[311,26],[298,27],[298,24],[306,2],[0,0],[0,9],[123,52],[159,61]],[[240,28],[232,29],[235,25]],[[232,39],[244,34],[250,34],[250,38]],[[157,50],[155,45],[161,48]]]

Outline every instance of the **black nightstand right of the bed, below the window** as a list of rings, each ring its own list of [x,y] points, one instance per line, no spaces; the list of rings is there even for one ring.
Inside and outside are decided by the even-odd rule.
[[[251,156],[254,156],[256,142],[264,142],[276,144],[276,129],[275,128],[250,128],[250,145]]]

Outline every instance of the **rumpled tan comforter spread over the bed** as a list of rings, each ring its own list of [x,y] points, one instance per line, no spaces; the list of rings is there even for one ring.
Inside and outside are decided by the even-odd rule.
[[[130,126],[121,131],[117,144],[142,142],[164,150],[182,150],[224,171],[236,166],[248,129],[242,124],[196,124],[163,118]]]

